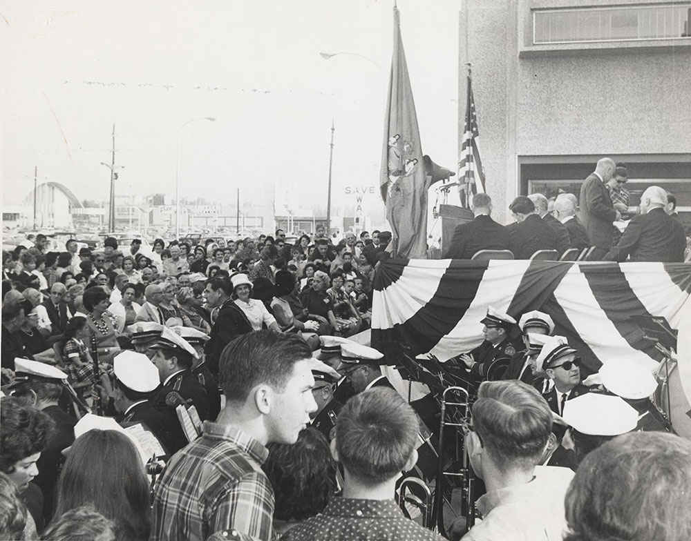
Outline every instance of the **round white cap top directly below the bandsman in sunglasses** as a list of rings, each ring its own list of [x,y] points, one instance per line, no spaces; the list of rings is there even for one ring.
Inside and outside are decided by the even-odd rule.
[[[562,415],[578,432],[618,436],[636,428],[638,412],[618,396],[585,393],[564,404]]]

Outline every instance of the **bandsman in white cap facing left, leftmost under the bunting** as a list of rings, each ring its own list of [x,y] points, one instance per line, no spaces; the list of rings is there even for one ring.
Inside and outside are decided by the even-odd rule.
[[[509,335],[516,320],[493,306],[487,306],[487,315],[480,323],[484,324],[484,342],[470,353],[458,355],[451,362],[462,362],[475,382],[500,380],[509,360],[520,348]]]

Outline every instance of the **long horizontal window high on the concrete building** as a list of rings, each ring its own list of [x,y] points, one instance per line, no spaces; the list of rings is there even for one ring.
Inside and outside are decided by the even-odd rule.
[[[691,3],[533,10],[533,44],[691,37]]]

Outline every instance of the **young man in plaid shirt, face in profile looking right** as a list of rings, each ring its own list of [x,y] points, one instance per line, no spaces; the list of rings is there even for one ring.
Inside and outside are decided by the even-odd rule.
[[[304,340],[272,331],[242,335],[223,350],[225,406],[162,473],[152,541],[202,541],[226,529],[273,538],[274,495],[261,465],[267,444],[294,444],[310,421],[313,364]]]

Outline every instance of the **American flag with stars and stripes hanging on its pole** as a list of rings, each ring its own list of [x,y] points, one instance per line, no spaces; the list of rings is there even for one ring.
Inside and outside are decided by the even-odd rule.
[[[458,161],[459,196],[461,206],[470,208],[471,199],[476,193],[484,193],[484,172],[478,147],[480,131],[477,130],[477,114],[470,73],[468,73],[468,93],[466,97],[466,125],[461,141],[461,157]]]

